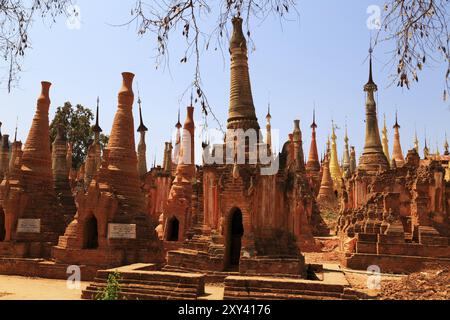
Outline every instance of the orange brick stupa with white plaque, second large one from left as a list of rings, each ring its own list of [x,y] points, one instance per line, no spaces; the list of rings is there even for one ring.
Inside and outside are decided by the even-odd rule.
[[[56,262],[115,267],[163,259],[155,232],[157,221],[146,213],[137,170],[134,75],[122,76],[118,108],[100,170],[87,192],[76,196],[78,212],[54,247]]]

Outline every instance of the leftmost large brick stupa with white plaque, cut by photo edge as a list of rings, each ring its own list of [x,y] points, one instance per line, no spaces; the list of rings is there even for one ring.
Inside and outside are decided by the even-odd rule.
[[[64,215],[57,205],[52,174],[50,86],[42,82],[23,155],[0,187],[0,215],[5,221],[0,256],[49,257],[51,246],[64,232]]]

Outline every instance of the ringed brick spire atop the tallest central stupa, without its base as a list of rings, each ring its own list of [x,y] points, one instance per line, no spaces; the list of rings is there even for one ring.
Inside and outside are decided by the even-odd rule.
[[[253,129],[256,134],[260,127],[253,104],[250,75],[248,70],[247,41],[242,32],[242,19],[235,17],[233,35],[230,41],[231,89],[228,114],[228,130]]]

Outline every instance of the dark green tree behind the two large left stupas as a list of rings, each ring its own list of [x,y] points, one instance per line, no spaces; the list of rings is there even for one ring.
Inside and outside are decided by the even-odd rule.
[[[79,169],[86,160],[88,147],[94,138],[91,124],[93,120],[94,114],[89,108],[80,104],[73,107],[70,102],[66,102],[64,106],[58,107],[50,124],[51,141],[56,137],[58,124],[62,124],[66,129],[67,140],[73,146],[72,166],[74,169]],[[102,147],[108,143],[108,138],[106,135],[100,135]]]

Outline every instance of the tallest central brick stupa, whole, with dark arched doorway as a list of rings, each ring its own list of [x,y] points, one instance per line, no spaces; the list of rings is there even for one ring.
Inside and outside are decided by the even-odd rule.
[[[304,275],[300,249],[315,248],[313,223],[320,222],[320,214],[306,178],[299,121],[295,121],[292,140],[285,145],[283,153],[272,156],[272,164],[279,163],[279,170],[263,174],[262,169],[267,169],[267,164],[261,161],[261,153],[270,152],[267,152],[267,143],[259,137],[242,19],[234,18],[232,22],[230,106],[225,144],[208,146],[204,150],[203,186],[199,196],[203,199],[203,210],[199,211],[203,218],[201,233],[194,234],[182,249],[169,251],[166,268]],[[236,130],[253,130],[258,139],[256,142],[236,139]],[[254,157],[256,161],[252,163],[250,159],[260,148],[264,148],[263,152]],[[237,150],[245,163],[237,161]],[[242,150],[245,150],[245,157]],[[210,157],[222,163],[205,161]],[[184,190],[189,191],[191,187],[186,186]],[[167,212],[172,214],[169,208]],[[189,215],[182,219],[189,219]],[[183,231],[178,229],[176,235],[174,229],[173,223],[166,224],[166,235],[170,235],[166,239],[184,240]]]

